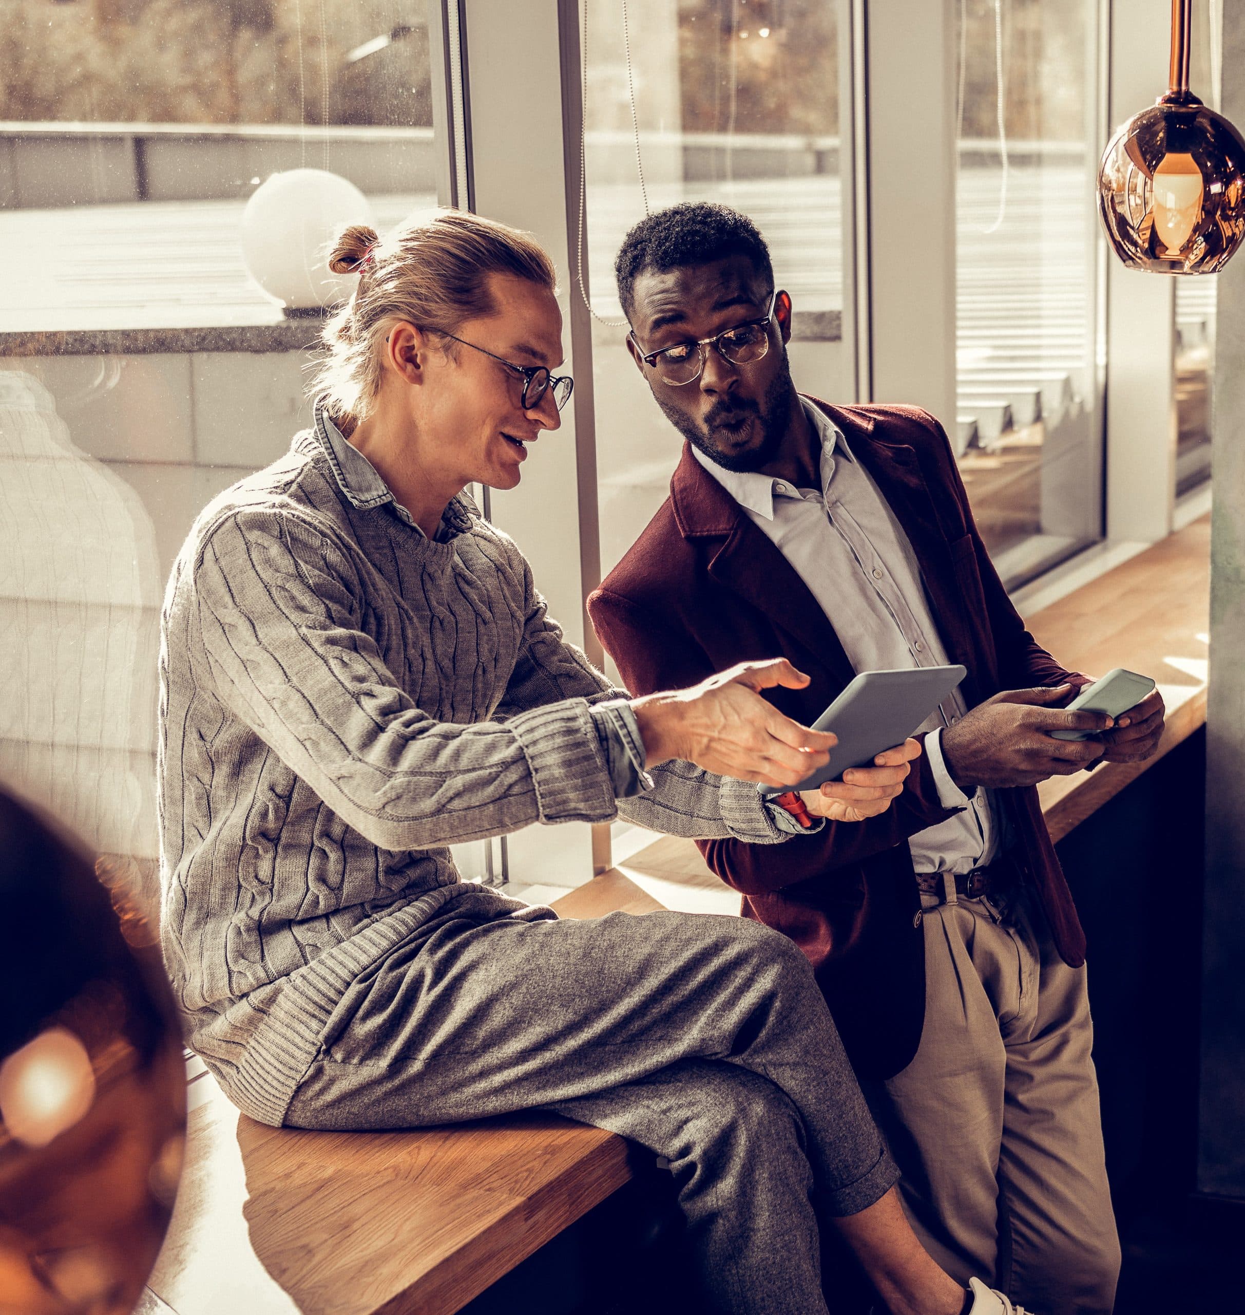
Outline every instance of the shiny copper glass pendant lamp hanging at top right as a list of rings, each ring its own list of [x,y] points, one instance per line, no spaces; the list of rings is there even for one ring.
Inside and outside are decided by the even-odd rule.
[[[1245,141],[1188,89],[1190,0],[1171,0],[1165,96],[1115,134],[1098,171],[1098,212],[1132,270],[1215,274],[1245,237]]]

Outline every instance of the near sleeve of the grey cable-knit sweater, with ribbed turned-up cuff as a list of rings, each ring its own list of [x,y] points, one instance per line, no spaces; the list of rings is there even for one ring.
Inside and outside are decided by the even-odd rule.
[[[439,722],[401,689],[360,625],[347,548],[293,514],[214,527],[195,594],[212,686],[346,822],[388,849],[615,813],[584,698],[505,723]]]

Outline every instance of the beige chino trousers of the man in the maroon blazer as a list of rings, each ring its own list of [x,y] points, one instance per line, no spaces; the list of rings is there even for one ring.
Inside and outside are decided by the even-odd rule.
[[[926,1022],[912,1063],[866,1084],[918,1236],[1037,1315],[1107,1315],[1120,1245],[1083,968],[1025,890],[922,896]]]

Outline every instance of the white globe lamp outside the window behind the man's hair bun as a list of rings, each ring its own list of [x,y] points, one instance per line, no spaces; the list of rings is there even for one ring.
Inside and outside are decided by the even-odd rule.
[[[322,168],[273,174],[242,212],[247,274],[285,314],[316,314],[344,301],[358,275],[329,270],[329,246],[351,224],[372,224],[367,197]]]

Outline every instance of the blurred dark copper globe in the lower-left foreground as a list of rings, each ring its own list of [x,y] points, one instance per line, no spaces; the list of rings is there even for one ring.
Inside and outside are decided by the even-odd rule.
[[[0,1315],[129,1315],[168,1226],[185,1068],[153,951],[0,793]]]

